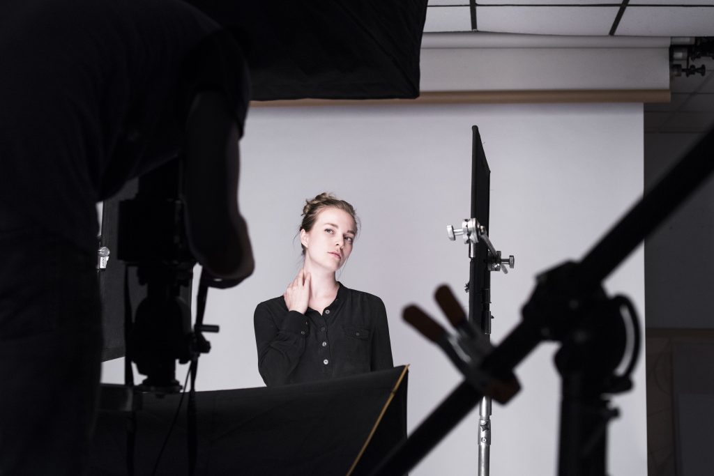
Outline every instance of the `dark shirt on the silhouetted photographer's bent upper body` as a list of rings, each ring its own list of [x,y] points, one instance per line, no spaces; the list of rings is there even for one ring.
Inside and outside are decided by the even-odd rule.
[[[180,0],[0,2],[0,202],[96,250],[94,203],[176,156],[187,93],[225,89],[242,124],[247,72],[219,28]]]

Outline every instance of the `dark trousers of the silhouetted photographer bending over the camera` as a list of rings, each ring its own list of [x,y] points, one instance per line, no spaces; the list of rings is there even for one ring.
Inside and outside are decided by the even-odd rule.
[[[83,474],[101,356],[95,263],[0,206],[0,475]]]

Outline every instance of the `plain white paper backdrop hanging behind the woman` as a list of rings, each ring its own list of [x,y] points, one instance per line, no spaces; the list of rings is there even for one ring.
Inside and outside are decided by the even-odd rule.
[[[446,238],[446,225],[470,213],[471,126],[479,126],[492,172],[489,235],[504,255],[516,255],[515,270],[492,277],[498,343],[518,323],[535,274],[581,258],[640,197],[642,121],[641,104],[253,108],[241,142],[240,198],[257,269],[238,288],[208,293],[206,323],[221,333],[208,336],[213,350],[201,357],[198,389],[263,385],[253,309],[281,295],[299,269],[304,200],[332,191],[353,203],[363,225],[338,279],[386,304],[394,362],[411,364],[411,432],[461,381],[441,350],[403,323],[401,309],[418,303],[445,322],[431,297],[441,283],[468,303],[468,250]],[[641,248],[606,287],[629,295],[643,315]],[[521,393],[493,407],[494,476],[555,474],[555,349],[541,345],[516,372]],[[104,365],[104,382],[121,375],[121,359]],[[622,417],[610,425],[610,473],[645,475],[644,365],[633,392],[614,402]],[[477,423],[474,411],[411,474],[476,475]]]

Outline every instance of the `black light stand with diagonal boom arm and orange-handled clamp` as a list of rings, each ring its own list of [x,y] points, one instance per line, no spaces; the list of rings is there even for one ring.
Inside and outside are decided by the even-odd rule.
[[[631,305],[623,298],[607,300],[600,285],[623,262],[639,243],[685,201],[714,170],[714,130],[709,131],[669,172],[635,205],[589,252],[580,263],[565,263],[543,273],[523,308],[523,320],[508,334],[498,348],[486,358],[471,351],[457,367],[466,380],[383,460],[373,475],[403,475],[468,415],[483,395],[507,402],[515,393],[512,370],[543,340],[558,340],[563,344],[558,370],[563,375],[563,406],[561,407],[560,476],[576,474],[605,475],[605,435],[608,420],[614,416],[600,390],[609,393],[627,390],[630,373],[639,352],[638,320]],[[629,317],[622,315],[628,308]],[[442,306],[442,309],[444,307]],[[613,311],[625,323],[630,320],[635,340],[630,363],[623,374],[608,374],[593,360],[603,360],[604,368],[615,360],[615,353],[605,352],[603,343],[610,341],[608,333],[622,326],[601,325],[600,320],[614,323]],[[449,316],[450,310],[445,310]],[[418,308],[405,309],[404,318],[443,347],[453,345],[443,328]],[[601,319],[598,316],[607,316]],[[436,324],[436,326],[435,326]],[[603,329],[604,328],[604,329]],[[620,337],[616,338],[620,340]],[[472,349],[477,339],[457,341],[461,352]],[[605,346],[607,347],[607,345]],[[452,353],[457,354],[456,351]],[[451,357],[451,355],[450,355]],[[593,377],[594,385],[588,384]],[[511,383],[511,385],[508,385]],[[510,390],[510,391],[509,391]],[[565,400],[568,400],[567,402]],[[593,409],[595,415],[593,415]],[[574,423],[566,418],[575,415]],[[567,451],[567,453],[565,453]],[[588,467],[591,469],[588,470]],[[580,468],[582,471],[574,468]]]

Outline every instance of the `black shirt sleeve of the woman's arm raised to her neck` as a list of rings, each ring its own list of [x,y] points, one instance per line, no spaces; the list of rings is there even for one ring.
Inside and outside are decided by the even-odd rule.
[[[276,310],[260,303],[253,315],[258,372],[268,387],[288,383],[305,351],[308,324],[296,310]]]

